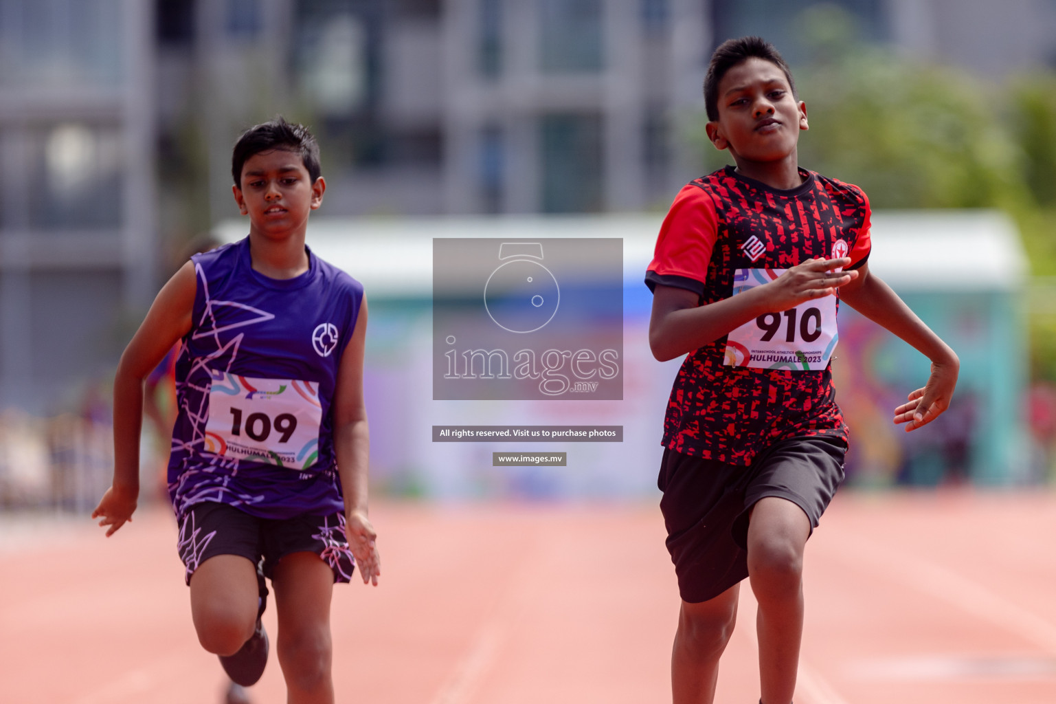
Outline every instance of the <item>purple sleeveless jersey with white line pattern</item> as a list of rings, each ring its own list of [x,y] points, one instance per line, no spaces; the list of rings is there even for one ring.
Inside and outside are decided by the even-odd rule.
[[[308,271],[252,270],[249,238],[191,257],[169,456],[177,516],[202,501],[261,518],[343,512],[331,403],[362,285],[308,251]]]

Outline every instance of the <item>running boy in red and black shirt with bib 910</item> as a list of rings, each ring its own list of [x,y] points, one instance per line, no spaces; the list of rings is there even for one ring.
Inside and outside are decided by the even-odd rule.
[[[943,412],[957,355],[869,272],[869,203],[802,169],[807,108],[758,37],[723,42],[704,79],[708,135],[727,167],[687,184],[646,273],[649,345],[686,358],[664,419],[658,484],[682,597],[676,704],[710,703],[739,582],[758,600],[762,704],[789,704],[803,632],[803,555],[843,480],[847,431],[829,368],[846,302],[931,360],[894,409],[913,430]]]

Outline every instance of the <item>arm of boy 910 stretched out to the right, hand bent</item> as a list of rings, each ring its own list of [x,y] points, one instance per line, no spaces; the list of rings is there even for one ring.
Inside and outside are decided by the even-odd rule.
[[[949,407],[961,362],[890,286],[869,273],[868,261],[857,271],[859,277],[840,289],[840,299],[931,360],[927,384],[910,393],[908,403],[894,409],[894,422],[905,423],[908,432],[927,425]]]

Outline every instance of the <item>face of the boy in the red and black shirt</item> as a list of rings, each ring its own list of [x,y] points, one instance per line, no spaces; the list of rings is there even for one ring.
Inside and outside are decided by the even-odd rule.
[[[795,153],[807,129],[807,106],[796,100],[780,67],[751,57],[727,71],[718,87],[719,118],[708,136],[738,163],[775,162]]]

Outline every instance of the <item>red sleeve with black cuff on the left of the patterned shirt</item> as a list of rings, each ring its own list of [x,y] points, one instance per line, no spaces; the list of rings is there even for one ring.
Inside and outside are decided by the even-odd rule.
[[[703,188],[687,184],[675,197],[660,226],[645,284],[650,291],[660,283],[702,294],[717,233],[712,197]]]

